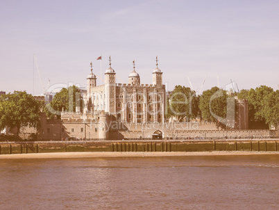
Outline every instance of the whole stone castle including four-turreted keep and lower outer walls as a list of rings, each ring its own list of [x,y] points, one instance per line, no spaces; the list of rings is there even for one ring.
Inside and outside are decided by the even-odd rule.
[[[110,60],[108,70],[105,71],[105,83],[96,86],[97,78],[91,64],[91,72],[87,76],[87,90],[81,90],[83,107],[76,106],[76,111],[71,113],[62,112],[60,120],[47,119],[42,113],[40,128],[34,133],[42,140],[237,136],[237,131],[230,131],[229,134],[228,131],[218,131],[215,124],[210,122],[166,122],[164,113],[167,92],[162,84],[163,73],[158,68],[157,57],[155,65],[155,69],[150,72],[153,77],[152,84],[141,84],[140,75],[135,70],[135,61],[133,71],[128,76],[128,83],[116,83],[116,72],[112,69]],[[247,110],[245,100],[239,100],[239,117],[235,126],[238,131],[248,129]]]

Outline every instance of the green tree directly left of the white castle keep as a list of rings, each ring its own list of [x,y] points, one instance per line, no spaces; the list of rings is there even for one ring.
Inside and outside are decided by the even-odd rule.
[[[61,111],[75,112],[77,104],[82,107],[81,92],[78,87],[70,86],[57,92],[53,100],[46,105],[44,111],[48,118],[60,118]]]

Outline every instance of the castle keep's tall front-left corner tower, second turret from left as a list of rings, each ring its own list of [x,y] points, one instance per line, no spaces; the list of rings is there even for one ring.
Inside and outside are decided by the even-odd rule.
[[[109,59],[110,60],[110,59]],[[111,60],[110,60],[111,61]],[[105,71],[105,112],[115,114],[115,70],[112,69],[111,63],[108,70]]]

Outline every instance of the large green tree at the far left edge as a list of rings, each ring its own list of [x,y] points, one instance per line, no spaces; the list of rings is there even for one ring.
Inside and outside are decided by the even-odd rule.
[[[26,91],[14,91],[0,97],[0,130],[37,126],[40,120],[39,104]]]

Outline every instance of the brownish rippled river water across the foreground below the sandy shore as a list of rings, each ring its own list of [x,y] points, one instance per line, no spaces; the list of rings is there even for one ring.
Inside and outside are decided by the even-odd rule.
[[[278,209],[278,154],[0,160],[0,209]]]

